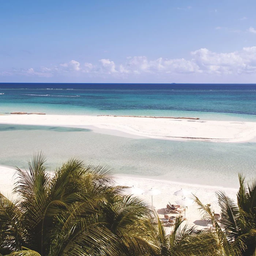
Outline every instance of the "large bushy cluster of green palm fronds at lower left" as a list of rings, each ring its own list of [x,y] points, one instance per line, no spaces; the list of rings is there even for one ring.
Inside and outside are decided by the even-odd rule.
[[[153,212],[137,198],[121,195],[112,170],[71,159],[50,177],[40,153],[29,170],[17,168],[12,201],[0,194],[2,255],[146,255]],[[34,252],[33,252],[34,251]],[[37,253],[37,254],[35,254]]]

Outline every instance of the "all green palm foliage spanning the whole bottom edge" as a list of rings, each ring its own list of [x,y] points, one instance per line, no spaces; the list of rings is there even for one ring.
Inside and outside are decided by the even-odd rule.
[[[255,249],[255,182],[245,188],[242,177],[238,206],[218,193],[224,231],[211,207],[196,198],[216,232],[196,230],[177,218],[166,234],[152,208],[123,195],[124,187],[114,185],[107,167],[70,159],[50,175],[40,153],[29,170],[17,168],[17,174],[19,199],[0,193],[0,255],[234,256]]]

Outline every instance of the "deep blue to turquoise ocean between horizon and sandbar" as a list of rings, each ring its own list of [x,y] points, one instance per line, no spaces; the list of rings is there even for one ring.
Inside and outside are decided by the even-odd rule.
[[[256,120],[256,84],[0,83],[0,113]]]

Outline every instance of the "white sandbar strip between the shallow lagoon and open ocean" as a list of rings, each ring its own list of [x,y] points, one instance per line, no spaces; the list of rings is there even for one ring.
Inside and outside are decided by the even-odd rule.
[[[92,126],[111,130],[113,135],[118,131],[144,138],[171,140],[246,142],[256,138],[256,122],[25,114],[1,115],[0,124]]]

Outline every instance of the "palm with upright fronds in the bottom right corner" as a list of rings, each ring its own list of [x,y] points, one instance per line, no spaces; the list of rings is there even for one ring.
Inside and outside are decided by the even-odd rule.
[[[195,201],[204,212],[204,219],[214,223],[219,251],[223,255],[256,255],[256,180],[245,182],[239,174],[239,182],[237,203],[225,192],[216,193],[221,207],[221,225],[209,204],[203,205],[197,197]]]

